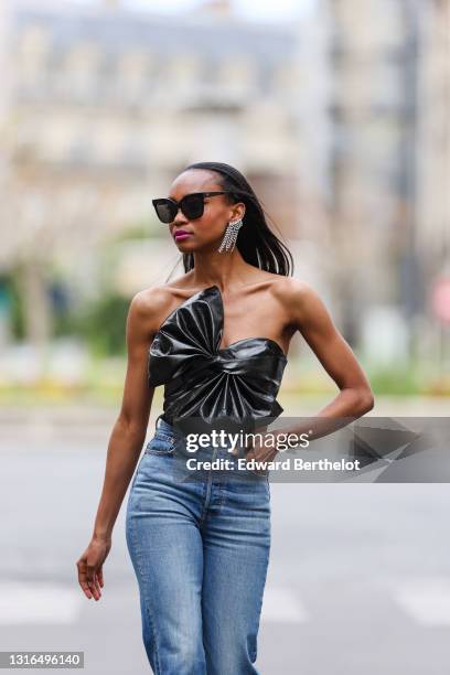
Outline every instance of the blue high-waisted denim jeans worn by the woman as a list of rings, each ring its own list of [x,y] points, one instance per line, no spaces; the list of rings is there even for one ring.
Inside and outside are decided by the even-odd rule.
[[[193,470],[192,458],[237,460],[226,446],[185,449],[159,418],[129,492],[126,537],[147,655],[156,675],[255,675],[270,550],[268,476]]]

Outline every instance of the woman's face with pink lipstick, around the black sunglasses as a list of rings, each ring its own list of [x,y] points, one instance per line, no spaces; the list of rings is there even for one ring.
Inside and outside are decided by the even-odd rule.
[[[203,169],[189,169],[173,181],[169,195],[180,202],[186,194],[192,192],[222,191],[216,174]],[[231,204],[227,195],[217,194],[204,197],[204,212],[200,218],[188,219],[181,208],[175,218],[169,224],[170,234],[182,253],[191,253],[204,247],[218,248],[229,221],[235,222],[244,217],[245,204],[239,202]],[[176,238],[178,232],[189,233],[186,237]]]

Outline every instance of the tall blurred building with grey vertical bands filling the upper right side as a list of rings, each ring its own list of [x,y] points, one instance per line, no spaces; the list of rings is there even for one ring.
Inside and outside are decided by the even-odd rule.
[[[374,358],[398,362],[439,332],[427,289],[449,232],[450,4],[326,6],[334,287],[346,334]]]

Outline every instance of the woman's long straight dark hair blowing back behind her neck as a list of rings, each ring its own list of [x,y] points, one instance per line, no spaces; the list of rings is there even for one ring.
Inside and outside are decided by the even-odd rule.
[[[196,162],[189,164],[183,171],[189,169],[207,169],[216,172],[219,175],[218,184],[222,190],[232,192],[226,197],[233,204],[245,203],[244,224],[236,242],[244,260],[266,271],[290,277],[293,272],[292,254],[269,228],[261,202],[240,171],[222,162]],[[193,269],[193,254],[183,254],[183,266],[185,272]]]

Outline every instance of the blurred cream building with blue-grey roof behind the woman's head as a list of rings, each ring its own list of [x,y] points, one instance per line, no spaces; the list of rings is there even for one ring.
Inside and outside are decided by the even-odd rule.
[[[326,108],[299,26],[246,23],[227,2],[175,18],[119,2],[7,7],[0,255],[24,267],[32,339],[50,332],[40,279],[51,256],[83,267],[114,231],[149,222],[150,235],[151,197],[189,162],[237,165],[285,238],[306,214],[323,221],[328,150],[311,149],[300,122],[324,125]]]

